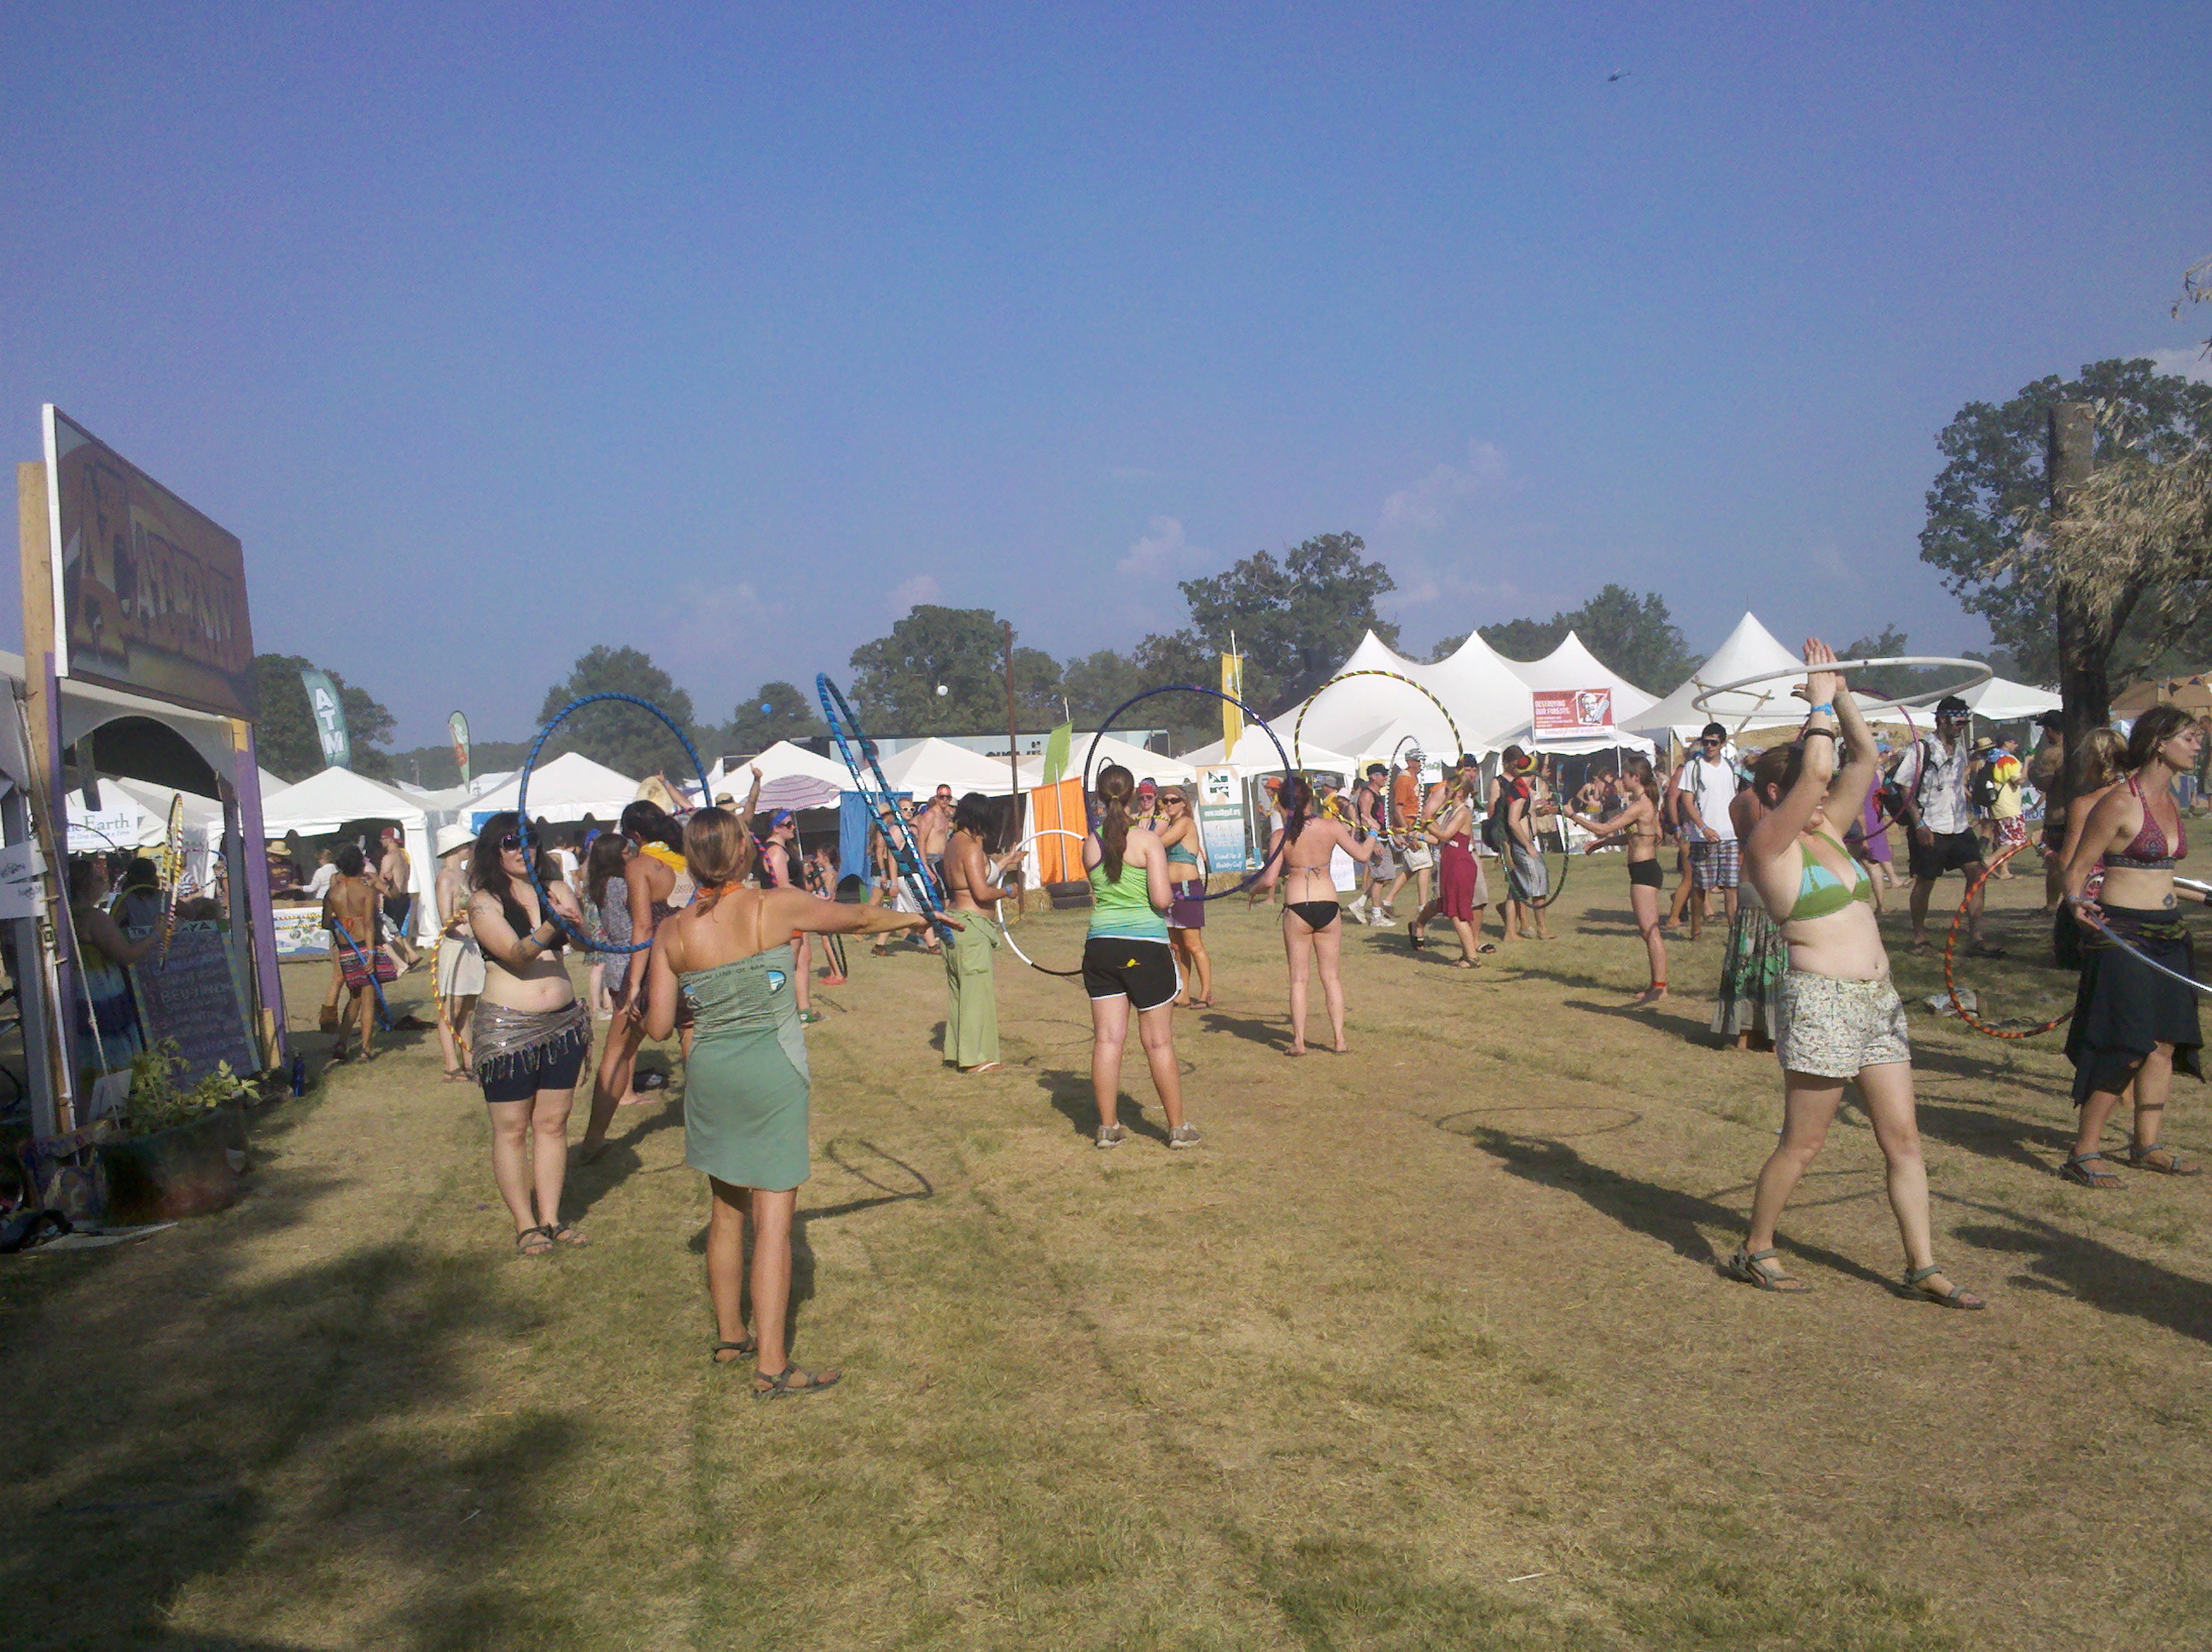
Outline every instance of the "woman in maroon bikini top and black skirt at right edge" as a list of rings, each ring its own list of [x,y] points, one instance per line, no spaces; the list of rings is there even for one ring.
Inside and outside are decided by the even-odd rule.
[[[2066,902],[2081,920],[2081,986],[2073,1026],[2066,1028],[2066,1059],[2075,1066],[2081,1128],[2059,1174],[2084,1188],[2119,1183],[2106,1168],[2101,1139],[2130,1084],[2135,1137],[2128,1163],[2168,1177],[2197,1174],[2194,1163],[2159,1146],[2174,1068],[2203,1079],[2197,989],[2150,969],[2110,935],[2183,977],[2197,975],[2174,891],[2174,865],[2190,851],[2174,785],[2197,772],[2201,754],[2203,728],[2197,719],[2177,705],[2152,705],[2128,732],[2128,778],[2095,805],[2079,796],[2073,805],[2081,816],[2081,836],[2066,858]],[[2104,862],[2104,887],[2090,893],[2097,862]]]

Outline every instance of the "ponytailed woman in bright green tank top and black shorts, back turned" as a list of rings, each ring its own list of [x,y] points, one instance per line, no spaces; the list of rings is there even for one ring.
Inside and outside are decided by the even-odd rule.
[[[1168,1115],[1168,1146],[1194,1148],[1199,1132],[1183,1123],[1183,1075],[1175,1064],[1175,947],[1161,916],[1175,900],[1168,847],[1152,832],[1130,832],[1137,778],[1119,763],[1099,770],[1099,825],[1084,838],[1091,874],[1091,935],[1084,940],[1084,993],[1091,995],[1091,1090],[1099,1104],[1099,1148],[1128,1137],[1119,1121],[1121,1044],[1128,1013],[1137,1011],[1152,1088]]]

